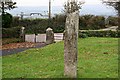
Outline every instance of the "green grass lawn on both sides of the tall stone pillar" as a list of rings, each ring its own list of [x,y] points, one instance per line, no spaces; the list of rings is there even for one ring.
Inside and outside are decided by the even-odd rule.
[[[118,77],[118,38],[78,41],[79,78]],[[58,42],[2,58],[3,78],[64,78],[64,44]]]

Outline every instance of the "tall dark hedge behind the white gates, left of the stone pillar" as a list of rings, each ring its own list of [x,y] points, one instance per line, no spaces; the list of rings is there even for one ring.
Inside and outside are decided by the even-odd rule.
[[[15,21],[16,20],[16,21]],[[65,27],[65,15],[56,15],[50,21],[48,19],[23,19],[13,18],[13,26],[24,26],[27,34],[46,33],[46,29],[50,26],[54,32],[63,32]]]

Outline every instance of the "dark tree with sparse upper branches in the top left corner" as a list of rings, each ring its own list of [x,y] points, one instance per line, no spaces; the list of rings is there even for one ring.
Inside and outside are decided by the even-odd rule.
[[[16,8],[16,2],[12,0],[0,0],[0,9],[2,11],[2,27],[9,28],[12,24],[12,15],[5,12],[6,10],[11,10]]]

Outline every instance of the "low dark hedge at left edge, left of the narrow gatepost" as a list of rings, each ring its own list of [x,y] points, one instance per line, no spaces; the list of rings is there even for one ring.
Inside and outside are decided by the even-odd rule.
[[[19,38],[21,27],[2,28],[2,38]]]

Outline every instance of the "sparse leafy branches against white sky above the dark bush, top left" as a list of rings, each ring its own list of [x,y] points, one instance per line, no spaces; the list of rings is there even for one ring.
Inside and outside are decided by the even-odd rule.
[[[16,8],[16,2],[12,0],[0,0],[0,9],[2,10],[2,14],[5,14],[5,10],[11,10]]]

